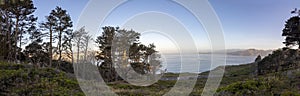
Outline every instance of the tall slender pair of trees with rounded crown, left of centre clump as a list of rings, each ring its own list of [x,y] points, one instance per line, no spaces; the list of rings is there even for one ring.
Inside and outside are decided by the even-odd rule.
[[[40,26],[43,30],[48,31],[50,41],[49,43],[49,55],[50,55],[50,66],[52,66],[52,43],[58,41],[56,53],[58,54],[58,61],[62,61],[62,52],[66,52],[67,56],[73,59],[72,56],[72,44],[73,39],[72,29],[73,22],[71,16],[67,13],[67,10],[56,6],[55,9],[51,11],[49,16],[46,16],[46,22],[41,23]],[[60,66],[60,62],[56,66]]]

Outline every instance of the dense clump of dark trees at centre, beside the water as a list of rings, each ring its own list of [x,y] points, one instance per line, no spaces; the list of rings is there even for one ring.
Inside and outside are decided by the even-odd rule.
[[[96,39],[99,47],[96,58],[101,61],[99,71],[105,81],[119,80],[114,67],[122,71],[122,76],[127,76],[130,67],[140,74],[155,74],[161,68],[155,45],[141,44],[140,33],[110,26],[102,29],[102,35]]]

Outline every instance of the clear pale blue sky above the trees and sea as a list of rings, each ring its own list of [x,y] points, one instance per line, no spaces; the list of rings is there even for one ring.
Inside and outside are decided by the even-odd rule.
[[[226,49],[283,47],[284,37],[281,36],[281,30],[284,23],[292,16],[290,12],[294,8],[300,8],[300,0],[208,1],[222,25]],[[89,10],[91,15],[101,13],[101,8],[105,7],[90,4],[89,0],[34,0],[34,5],[37,7],[35,15],[39,18],[38,22],[45,21],[44,17],[49,15],[52,9],[61,6],[70,14],[74,28],[81,27],[77,26],[79,18],[87,18],[87,21],[99,19],[97,16],[84,17],[87,14],[81,14],[88,9],[87,5],[99,8]],[[188,9],[170,0],[129,0],[110,12],[103,22],[85,25],[94,38],[101,35],[102,26],[109,25],[141,32],[142,43],[154,43],[161,51],[178,51],[178,46],[193,44],[198,50],[211,48],[210,38],[202,23],[198,22]],[[152,29],[145,30],[146,28]],[[179,30],[182,33],[178,33]],[[172,38],[173,35],[177,37]],[[189,50],[189,47],[184,50]]]

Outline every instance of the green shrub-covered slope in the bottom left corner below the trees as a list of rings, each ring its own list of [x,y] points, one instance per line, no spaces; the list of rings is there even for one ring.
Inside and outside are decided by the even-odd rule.
[[[84,95],[72,74],[53,68],[0,62],[0,81],[1,96]]]

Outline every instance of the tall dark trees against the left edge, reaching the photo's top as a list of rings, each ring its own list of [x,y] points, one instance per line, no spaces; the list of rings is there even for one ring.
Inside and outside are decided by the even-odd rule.
[[[32,0],[2,0],[0,5],[0,60],[21,59],[24,34],[33,32],[37,17]]]

